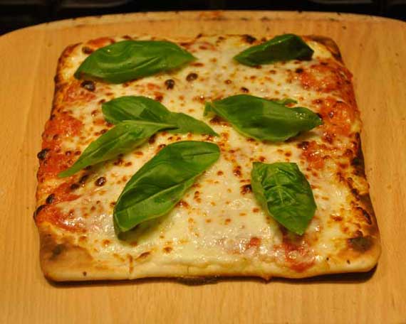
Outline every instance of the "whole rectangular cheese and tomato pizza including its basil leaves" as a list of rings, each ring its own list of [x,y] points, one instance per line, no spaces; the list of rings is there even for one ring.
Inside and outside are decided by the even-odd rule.
[[[58,61],[34,220],[54,281],[369,271],[352,75],[285,34],[98,38]]]

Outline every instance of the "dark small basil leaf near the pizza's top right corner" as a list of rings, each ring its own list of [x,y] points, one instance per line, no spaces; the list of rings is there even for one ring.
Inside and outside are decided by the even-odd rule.
[[[313,53],[299,36],[283,34],[243,50],[234,56],[234,60],[244,65],[256,66],[286,60],[310,60]]]

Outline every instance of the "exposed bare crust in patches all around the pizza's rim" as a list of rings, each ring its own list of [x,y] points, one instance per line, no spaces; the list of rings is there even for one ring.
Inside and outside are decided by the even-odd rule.
[[[330,38],[323,36],[305,36],[304,38],[325,46],[335,60],[342,63],[338,45]],[[66,89],[69,86],[66,70],[71,68],[71,55],[80,46],[80,44],[68,46],[58,60],[51,118],[53,112],[63,105]],[[342,247],[337,255],[317,262],[305,271],[295,271],[274,261],[244,259],[244,257],[228,264],[158,265],[150,261],[152,254],[160,253],[155,251],[143,252],[137,257],[127,254],[102,259],[97,257],[100,254],[95,254],[90,244],[80,242],[80,234],[66,232],[51,222],[37,221],[41,239],[40,260],[43,274],[53,281],[119,280],[147,277],[202,279],[226,276],[258,276],[268,280],[273,276],[297,279],[322,274],[370,271],[377,264],[380,256],[380,237],[368,192],[368,183],[365,180],[365,166],[359,134],[356,140],[358,141],[356,145],[358,153],[353,160],[356,171],[356,174],[353,175],[355,181],[351,181],[351,183],[345,179],[343,181],[349,186],[353,198],[358,201],[360,212],[368,220],[367,224],[362,227],[363,237],[362,239],[348,239],[345,247]],[[39,186],[37,200],[38,206],[41,206],[43,193]]]

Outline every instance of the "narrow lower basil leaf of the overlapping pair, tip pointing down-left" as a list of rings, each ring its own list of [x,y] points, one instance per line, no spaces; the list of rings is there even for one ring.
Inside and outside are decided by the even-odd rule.
[[[71,176],[86,166],[108,161],[120,153],[132,151],[157,131],[168,127],[172,127],[172,125],[145,121],[123,121],[90,143],[73,166],[59,173],[58,177]]]

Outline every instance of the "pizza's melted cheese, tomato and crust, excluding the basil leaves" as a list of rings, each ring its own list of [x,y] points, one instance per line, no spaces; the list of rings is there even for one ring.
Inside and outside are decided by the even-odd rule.
[[[56,281],[142,277],[272,276],[301,278],[368,271],[380,255],[378,225],[368,193],[360,116],[352,75],[333,41],[303,36],[311,60],[250,67],[232,58],[264,41],[253,36],[169,40],[197,60],[183,68],[120,84],[77,80],[80,63],[124,38],[71,45],[58,63],[51,117],[38,153],[35,221],[41,267]],[[150,37],[132,39],[154,39]],[[323,125],[280,143],[241,135],[204,102],[247,94],[291,98],[316,112]],[[130,153],[58,178],[85,148],[113,127],[103,102],[145,96],[172,112],[206,122],[219,136],[161,131]],[[127,181],[163,147],[207,141],[219,161],[197,178],[167,215],[118,238],[113,209]],[[316,213],[303,235],[279,225],[252,193],[253,162],[295,162],[308,179]]]

